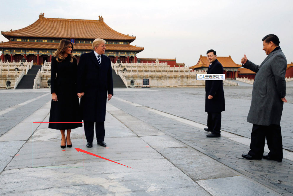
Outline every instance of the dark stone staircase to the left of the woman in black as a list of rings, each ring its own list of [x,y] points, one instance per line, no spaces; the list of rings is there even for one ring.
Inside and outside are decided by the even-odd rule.
[[[33,89],[35,77],[42,68],[42,65],[33,65],[31,69],[28,70],[27,74],[24,75],[15,89]]]

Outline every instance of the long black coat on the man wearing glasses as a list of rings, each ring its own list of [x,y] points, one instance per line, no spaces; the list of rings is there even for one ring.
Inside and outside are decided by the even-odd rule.
[[[222,64],[216,59],[207,74],[223,74],[224,69]],[[213,96],[213,99],[208,99],[208,95]],[[205,111],[216,113],[225,111],[225,97],[223,89],[223,81],[221,80],[206,80],[205,81]]]

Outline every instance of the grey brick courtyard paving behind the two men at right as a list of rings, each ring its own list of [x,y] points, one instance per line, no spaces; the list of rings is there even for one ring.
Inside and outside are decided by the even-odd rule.
[[[293,151],[293,87],[287,83],[281,118],[284,149]],[[252,124],[246,121],[251,103],[252,86],[224,86],[226,111],[222,112],[222,130],[250,138]],[[151,88],[138,91],[118,90],[120,97],[146,107],[170,113],[197,123],[206,124],[204,88]]]

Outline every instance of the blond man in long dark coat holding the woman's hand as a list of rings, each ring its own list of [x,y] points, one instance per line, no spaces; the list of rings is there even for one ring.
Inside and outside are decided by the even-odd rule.
[[[103,55],[105,49],[106,41],[95,39],[93,51],[82,54],[77,66],[77,95],[81,97],[80,107],[88,148],[93,147],[94,124],[98,145],[106,146],[106,99],[109,101],[113,96],[113,79],[111,61]]]

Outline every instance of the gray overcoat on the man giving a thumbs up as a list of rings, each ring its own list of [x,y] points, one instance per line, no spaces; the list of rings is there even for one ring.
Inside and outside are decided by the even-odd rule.
[[[242,67],[256,73],[247,122],[279,125],[284,103],[281,98],[286,95],[287,60],[282,50],[271,52],[260,65],[247,60]]]

